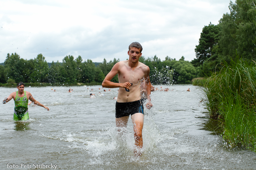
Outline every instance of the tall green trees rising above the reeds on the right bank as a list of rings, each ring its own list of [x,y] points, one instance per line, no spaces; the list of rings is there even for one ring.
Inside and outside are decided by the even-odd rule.
[[[256,0],[230,1],[230,13],[223,15],[218,25],[209,24],[202,30],[196,58],[191,64],[200,68],[200,75],[219,72],[222,63],[240,56],[243,61],[256,59]]]

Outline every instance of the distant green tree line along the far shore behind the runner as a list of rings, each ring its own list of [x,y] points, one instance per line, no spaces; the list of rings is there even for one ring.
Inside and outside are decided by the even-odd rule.
[[[150,68],[150,80],[153,84],[191,83],[197,77],[199,69],[182,58],[177,61],[168,56],[161,61],[157,56],[141,57],[140,62]],[[112,67],[119,62],[115,59],[102,63],[83,60],[81,56],[66,56],[62,63],[57,61],[48,64],[42,54],[30,60],[22,59],[17,53],[7,54],[4,65],[0,65],[0,83],[15,82],[47,82],[62,83],[101,83]],[[12,80],[12,81],[11,81]],[[112,79],[118,82],[117,75]]]

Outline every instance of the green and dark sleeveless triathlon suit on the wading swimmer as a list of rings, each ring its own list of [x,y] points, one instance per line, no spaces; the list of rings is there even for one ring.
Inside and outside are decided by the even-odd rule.
[[[16,97],[14,100],[15,107],[14,107],[14,115],[13,115],[13,120],[18,121],[18,120],[28,120],[28,99],[26,95],[26,91],[24,91],[24,96],[19,97],[18,91],[16,92]]]

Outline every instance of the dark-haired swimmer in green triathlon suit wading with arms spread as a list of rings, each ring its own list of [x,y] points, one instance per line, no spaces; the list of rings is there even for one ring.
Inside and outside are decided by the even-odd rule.
[[[31,102],[33,102],[34,104],[44,107],[45,109],[47,109],[47,111],[49,111],[49,108],[44,106],[43,104],[39,103],[39,101],[37,101],[36,99],[34,99],[31,95],[31,93],[29,93],[28,91],[24,91],[24,83],[23,82],[19,82],[17,84],[17,89],[18,89],[17,92],[11,93],[7,98],[5,98],[3,100],[3,104],[7,103],[11,99],[14,100],[15,107],[14,107],[13,119],[15,121],[18,121],[18,120],[25,121],[25,120],[29,119],[28,99]]]

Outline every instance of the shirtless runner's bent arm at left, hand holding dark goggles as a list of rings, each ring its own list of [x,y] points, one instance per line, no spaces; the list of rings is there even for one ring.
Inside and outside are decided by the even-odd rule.
[[[131,83],[130,82],[125,82],[125,83],[115,83],[112,82],[112,78],[119,73],[119,66],[120,62],[116,63],[111,71],[106,75],[105,79],[102,82],[102,87],[103,88],[126,88],[130,90]]]

